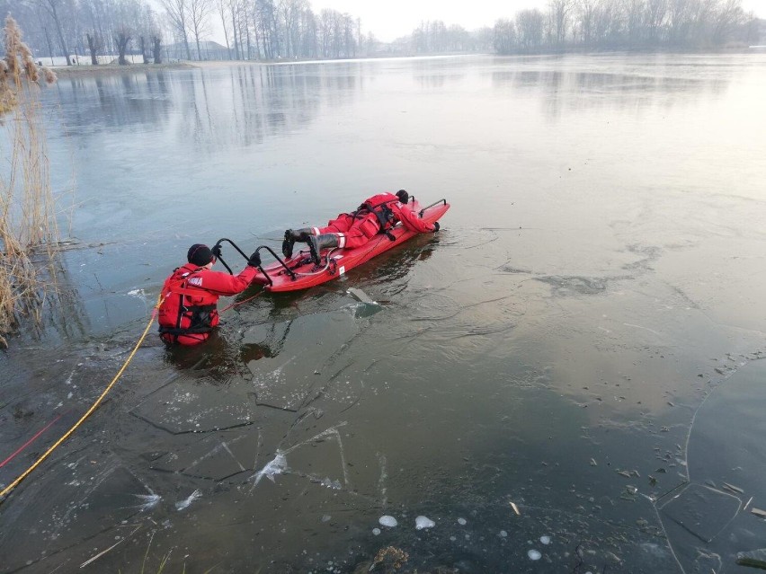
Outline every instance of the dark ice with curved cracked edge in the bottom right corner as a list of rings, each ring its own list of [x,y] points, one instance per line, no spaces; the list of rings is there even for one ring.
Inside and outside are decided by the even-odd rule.
[[[690,429],[687,456],[692,484],[678,499],[658,503],[667,504],[660,516],[686,572],[720,571],[721,567],[744,571],[735,567],[737,552],[763,546],[766,521],[754,517],[750,509],[766,508],[764,380],[766,360],[753,360],[708,396]],[[724,482],[743,492],[726,491]],[[749,507],[744,508],[748,501]],[[704,543],[700,538],[712,540]]]

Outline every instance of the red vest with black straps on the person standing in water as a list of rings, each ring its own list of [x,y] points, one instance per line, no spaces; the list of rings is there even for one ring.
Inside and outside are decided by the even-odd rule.
[[[165,279],[157,317],[164,340],[175,342],[179,336],[209,333],[218,325],[218,295],[193,287],[195,275],[203,270],[184,265]]]

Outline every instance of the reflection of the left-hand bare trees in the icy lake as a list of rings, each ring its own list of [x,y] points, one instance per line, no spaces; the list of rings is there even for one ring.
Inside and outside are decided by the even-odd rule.
[[[72,77],[58,92],[70,132],[171,126],[179,139],[209,151],[302,128],[323,105],[350,102],[361,78],[358,62],[230,66]]]

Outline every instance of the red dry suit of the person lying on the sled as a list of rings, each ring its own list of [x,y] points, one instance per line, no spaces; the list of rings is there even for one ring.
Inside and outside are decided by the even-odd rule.
[[[315,235],[335,234],[338,247],[353,249],[369,242],[375,235],[387,233],[401,221],[407,229],[424,234],[434,230],[411,209],[402,204],[393,193],[379,193],[365,199],[353,213],[342,213],[326,227],[312,227]]]

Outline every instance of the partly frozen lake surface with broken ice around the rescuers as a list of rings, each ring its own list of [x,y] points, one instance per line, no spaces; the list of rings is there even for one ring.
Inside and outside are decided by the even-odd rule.
[[[132,70],[44,91],[82,248],[71,305],[0,355],[3,484],[191,243],[277,249],[383,190],[452,207],[200,349],[152,334],[0,505],[0,572],[752,571],[766,55]]]

